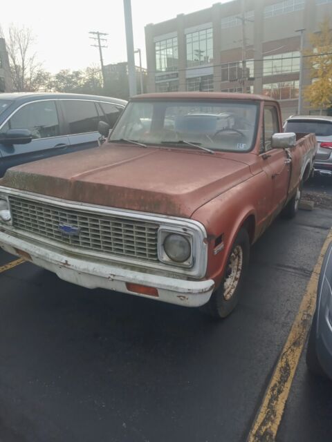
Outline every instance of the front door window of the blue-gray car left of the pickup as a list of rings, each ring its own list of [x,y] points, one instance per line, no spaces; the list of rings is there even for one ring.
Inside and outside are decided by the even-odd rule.
[[[10,129],[28,129],[34,138],[59,135],[59,119],[54,101],[26,104],[10,117],[8,123]]]

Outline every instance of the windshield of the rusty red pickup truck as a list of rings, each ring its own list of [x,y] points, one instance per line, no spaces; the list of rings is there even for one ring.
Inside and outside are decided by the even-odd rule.
[[[248,152],[255,142],[259,105],[240,100],[193,101],[142,99],[128,104],[113,129],[110,142],[212,151]]]

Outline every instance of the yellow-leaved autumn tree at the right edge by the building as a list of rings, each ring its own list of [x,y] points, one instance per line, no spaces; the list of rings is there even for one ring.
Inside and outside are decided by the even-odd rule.
[[[332,30],[329,19],[320,24],[320,32],[309,37],[312,50],[306,51],[306,65],[312,83],[304,89],[304,99],[311,108],[329,108],[332,104]]]

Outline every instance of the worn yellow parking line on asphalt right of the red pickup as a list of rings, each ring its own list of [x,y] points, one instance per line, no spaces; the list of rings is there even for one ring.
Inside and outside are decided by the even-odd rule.
[[[306,343],[306,336],[315,312],[316,291],[322,261],[329,243],[332,241],[332,229],[323,244],[311,278],[302,298],[299,311],[288,335],[286,344],[279,356],[279,361],[270,379],[263,402],[252,424],[248,442],[275,441],[279,424],[284,414],[284,408],[291,390],[291,385],[299,357]]]

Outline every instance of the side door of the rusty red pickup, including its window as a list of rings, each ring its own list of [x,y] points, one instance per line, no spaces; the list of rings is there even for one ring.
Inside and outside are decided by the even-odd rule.
[[[291,164],[284,149],[271,147],[272,135],[280,131],[278,111],[272,104],[264,105],[263,146],[261,153],[262,168],[270,179],[272,192],[271,213],[277,215],[287,198]]]

